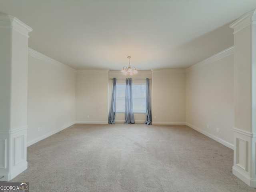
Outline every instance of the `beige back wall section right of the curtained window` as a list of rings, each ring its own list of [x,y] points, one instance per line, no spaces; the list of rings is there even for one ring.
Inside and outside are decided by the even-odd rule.
[[[185,110],[186,74],[175,70],[153,70],[152,123],[185,124]]]

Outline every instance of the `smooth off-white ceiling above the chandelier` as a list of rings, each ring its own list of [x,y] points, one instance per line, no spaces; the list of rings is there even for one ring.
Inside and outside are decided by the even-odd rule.
[[[256,0],[0,0],[29,48],[74,69],[185,69],[234,45],[229,24]]]

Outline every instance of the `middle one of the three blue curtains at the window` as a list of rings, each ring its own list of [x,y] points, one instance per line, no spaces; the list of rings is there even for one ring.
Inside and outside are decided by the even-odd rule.
[[[124,124],[135,123],[132,107],[132,79],[126,79],[125,86],[125,122]]]

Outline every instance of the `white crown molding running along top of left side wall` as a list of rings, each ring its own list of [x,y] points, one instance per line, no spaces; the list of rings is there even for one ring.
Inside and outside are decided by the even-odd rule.
[[[61,62],[58,62],[58,61],[56,61],[56,60],[54,60],[54,59],[52,59],[52,58],[50,58],[50,57],[48,57],[44,54],[41,54],[41,53],[31,49],[31,48],[28,48],[28,55],[30,55],[34,58],[37,58],[39,60],[42,60],[44,62],[47,62],[49,64],[52,64],[52,65],[54,65],[58,68],[61,68],[61,69],[64,69],[64,70],[67,70],[67,71],[70,71],[70,72],[76,72],[75,69],[73,69],[73,68],[71,68],[71,67],[69,67],[69,66],[67,66],[67,65],[65,65]]]

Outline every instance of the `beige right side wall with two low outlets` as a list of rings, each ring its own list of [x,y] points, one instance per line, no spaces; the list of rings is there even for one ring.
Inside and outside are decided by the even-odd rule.
[[[186,74],[186,123],[233,144],[234,54]]]

